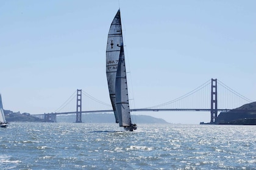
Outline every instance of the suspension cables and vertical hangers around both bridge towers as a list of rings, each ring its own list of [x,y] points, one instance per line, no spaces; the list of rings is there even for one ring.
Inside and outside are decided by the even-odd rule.
[[[182,110],[199,110],[211,108],[211,83],[212,80],[206,81],[201,86],[191,90],[179,98],[168,101],[163,104],[158,104],[151,107],[144,107],[143,109],[182,109]],[[244,97],[235,90],[228,87],[226,84],[218,80],[218,109],[235,109],[246,102],[252,102],[249,98]],[[216,88],[217,90],[217,88]],[[84,90],[82,90],[82,110],[96,111],[96,110],[112,110],[112,105],[105,103],[97,98],[94,98]],[[55,112],[71,112],[76,106],[74,98],[76,98],[76,91],[62,104]],[[90,100],[88,100],[90,99]],[[73,102],[73,103],[72,103]],[[66,107],[69,104],[69,107]],[[65,111],[64,110],[65,107]],[[72,109],[73,108],[73,109]],[[69,110],[66,110],[69,109]]]

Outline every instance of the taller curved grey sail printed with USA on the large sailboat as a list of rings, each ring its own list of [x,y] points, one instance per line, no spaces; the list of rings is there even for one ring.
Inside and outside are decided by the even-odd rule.
[[[122,35],[122,28],[121,28],[120,10],[118,10],[108,32],[107,50],[106,50],[106,62],[107,62],[106,73],[107,73],[108,90],[109,90],[110,100],[111,100],[115,118],[116,118],[116,123],[118,123],[119,120],[118,120],[118,115],[116,113],[115,83],[116,83],[116,70],[118,67],[118,60],[120,55],[120,47],[119,47],[120,44],[123,44],[123,35]]]

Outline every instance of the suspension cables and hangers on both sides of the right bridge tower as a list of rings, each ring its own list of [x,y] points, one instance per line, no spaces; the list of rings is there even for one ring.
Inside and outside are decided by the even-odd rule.
[[[191,92],[174,100],[143,109],[210,109],[211,82],[212,80],[208,80],[196,89],[191,90]],[[218,86],[218,109],[235,109],[243,104],[252,102],[252,100],[239,94],[219,80],[216,86]]]

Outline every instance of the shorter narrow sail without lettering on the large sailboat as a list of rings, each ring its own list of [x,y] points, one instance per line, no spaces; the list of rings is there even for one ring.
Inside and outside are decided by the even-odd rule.
[[[124,47],[120,47],[118,69],[116,72],[116,110],[119,118],[119,126],[131,126],[129,97],[126,79],[126,63],[124,61]]]

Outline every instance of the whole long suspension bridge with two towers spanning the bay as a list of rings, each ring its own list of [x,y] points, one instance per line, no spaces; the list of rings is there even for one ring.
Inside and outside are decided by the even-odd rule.
[[[84,98],[82,100],[82,95]],[[84,103],[82,101],[85,101]],[[211,79],[179,98],[151,107],[130,109],[131,112],[208,111],[214,124],[218,112],[229,112],[252,100],[244,97],[217,79]],[[74,110],[76,106],[76,110]],[[82,110],[82,106],[84,110]],[[96,108],[96,109],[95,109]],[[239,111],[239,110],[236,110]],[[256,112],[256,110],[247,110]],[[111,104],[104,103],[82,89],[77,89],[57,110],[48,114],[34,114],[43,121],[57,121],[57,115],[76,114],[76,123],[82,123],[82,114],[113,112]]]

